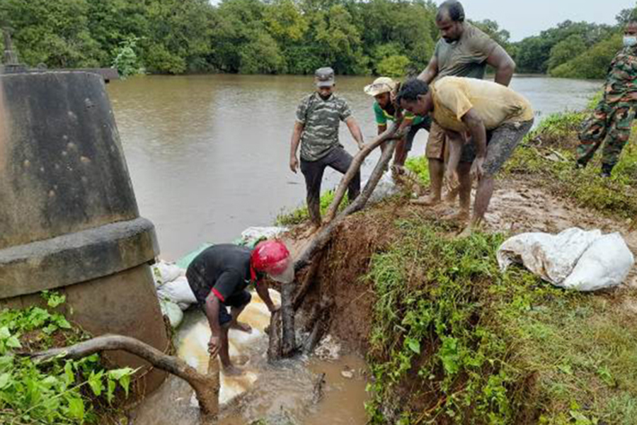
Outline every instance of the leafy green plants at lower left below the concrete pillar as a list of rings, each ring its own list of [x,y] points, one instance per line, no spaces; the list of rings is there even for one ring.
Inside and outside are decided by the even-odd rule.
[[[120,387],[128,395],[134,370],[104,370],[98,355],[79,361],[34,363],[17,353],[67,346],[87,339],[55,312],[64,296],[45,291],[47,308],[0,312],[0,422],[3,424],[103,424],[115,416]]]

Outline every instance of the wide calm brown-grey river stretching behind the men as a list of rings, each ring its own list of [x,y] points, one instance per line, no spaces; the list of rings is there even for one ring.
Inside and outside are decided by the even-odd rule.
[[[371,77],[338,77],[363,135],[376,135]],[[539,118],[580,109],[599,81],[515,77]],[[302,203],[302,175],[288,168],[289,137],[311,77],[205,75],[135,77],[108,85],[137,203],[154,222],[161,256],[177,259],[203,242],[229,242],[250,226],[271,225],[282,209]],[[341,125],[341,142],[356,152]],[[411,154],[427,139],[418,133]],[[362,173],[369,174],[371,156]],[[338,183],[328,171],[323,188]]]

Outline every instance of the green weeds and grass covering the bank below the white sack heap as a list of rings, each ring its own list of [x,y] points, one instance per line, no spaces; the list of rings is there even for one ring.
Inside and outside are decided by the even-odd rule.
[[[372,423],[631,424],[637,331],[610,295],[500,273],[501,234],[396,222],[375,254]]]

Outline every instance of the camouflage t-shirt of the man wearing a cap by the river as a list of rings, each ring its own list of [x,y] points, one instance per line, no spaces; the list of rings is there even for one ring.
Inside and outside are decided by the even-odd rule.
[[[301,159],[318,161],[340,146],[338,126],[352,115],[345,99],[332,94],[323,100],[318,93],[303,98],[297,108],[297,121],[304,125],[301,135]]]

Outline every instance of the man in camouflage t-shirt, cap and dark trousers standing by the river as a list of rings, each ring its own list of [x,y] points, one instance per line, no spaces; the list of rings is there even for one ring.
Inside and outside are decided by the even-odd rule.
[[[307,210],[314,229],[321,226],[321,181],[326,167],[345,174],[352,164],[348,154],[338,142],[340,121],[348,125],[359,149],[364,142],[360,128],[345,99],[333,94],[334,70],[325,67],[316,69],[314,74],[316,91],[303,98],[297,108],[297,122],[294,123],[289,151],[289,168],[296,173],[299,169],[297,149],[301,144],[301,172],[307,189]],[[360,193],[360,172],[352,179],[348,188],[350,201]]]

